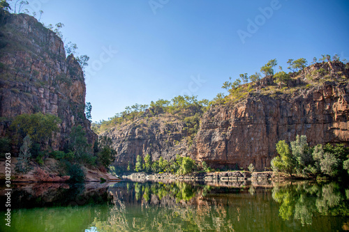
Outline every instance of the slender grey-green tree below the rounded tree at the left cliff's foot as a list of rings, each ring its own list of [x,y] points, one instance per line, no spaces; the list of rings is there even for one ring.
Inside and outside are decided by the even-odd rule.
[[[18,173],[25,174],[25,173],[28,173],[31,169],[31,167],[29,167],[29,160],[31,158],[30,148],[31,148],[31,139],[27,135],[23,139],[23,144],[20,147],[20,155],[18,155],[17,164],[15,166],[15,170]]]

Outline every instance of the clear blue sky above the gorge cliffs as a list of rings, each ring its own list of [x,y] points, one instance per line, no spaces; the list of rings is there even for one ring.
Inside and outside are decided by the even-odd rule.
[[[349,1],[31,0],[90,57],[92,120],[175,95],[211,100],[229,77],[270,59],[339,54],[349,61]],[[107,51],[107,52],[105,52]]]

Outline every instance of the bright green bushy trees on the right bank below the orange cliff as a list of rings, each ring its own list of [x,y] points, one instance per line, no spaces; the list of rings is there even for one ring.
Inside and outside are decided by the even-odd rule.
[[[284,140],[279,141],[276,150],[279,155],[272,160],[273,170],[284,171],[290,176],[297,173],[306,177],[340,178],[346,176],[349,168],[349,148],[345,148],[343,144],[319,144],[311,148],[305,135],[297,135],[290,146]]]

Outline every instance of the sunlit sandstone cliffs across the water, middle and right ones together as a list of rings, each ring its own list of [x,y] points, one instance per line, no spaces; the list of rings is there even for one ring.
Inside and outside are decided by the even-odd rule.
[[[265,77],[246,95],[210,107],[200,118],[200,129],[188,142],[183,118],[159,114],[141,116],[116,125],[103,135],[112,138],[117,166],[135,164],[137,155],[149,153],[170,160],[176,154],[205,161],[211,167],[257,170],[270,167],[275,144],[305,134],[309,145],[349,144],[349,72],[346,65],[323,62],[292,74],[288,87]]]

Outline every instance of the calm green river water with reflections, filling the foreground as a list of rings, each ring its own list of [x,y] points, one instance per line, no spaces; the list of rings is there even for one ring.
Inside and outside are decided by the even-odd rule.
[[[11,227],[2,216],[0,231],[349,230],[349,187],[339,183],[120,182],[14,189]]]

